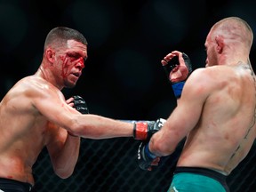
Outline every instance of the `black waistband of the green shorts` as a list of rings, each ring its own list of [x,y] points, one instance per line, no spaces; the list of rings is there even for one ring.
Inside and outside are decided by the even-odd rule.
[[[201,174],[207,177],[211,177],[214,180],[219,180],[220,183],[226,184],[227,176],[221,174],[220,172],[214,171],[212,169],[203,168],[203,167],[176,167],[174,174],[179,172],[191,172],[196,174]]]

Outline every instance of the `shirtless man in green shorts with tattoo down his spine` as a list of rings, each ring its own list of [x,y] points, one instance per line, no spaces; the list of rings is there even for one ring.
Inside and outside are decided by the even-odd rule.
[[[162,129],[140,144],[138,158],[140,168],[147,170],[153,159],[171,155],[186,139],[168,191],[229,191],[226,177],[247,156],[256,135],[252,40],[247,22],[228,17],[206,37],[206,68],[188,76],[188,60],[177,51],[161,61],[166,67],[179,57],[168,78],[175,95],[182,93]]]

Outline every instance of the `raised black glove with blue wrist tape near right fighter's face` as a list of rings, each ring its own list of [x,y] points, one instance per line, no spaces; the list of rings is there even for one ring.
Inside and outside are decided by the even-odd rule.
[[[165,60],[167,64],[163,66],[166,76],[168,77],[169,82],[172,84],[172,90],[177,99],[180,98],[183,86],[184,86],[186,80],[188,79],[188,76],[192,73],[192,64],[188,58],[188,55],[186,53],[182,52],[182,58],[185,62],[185,66],[188,68],[188,72],[187,72],[187,70],[181,70],[180,61],[179,61],[178,56],[173,57],[172,60],[169,60],[169,61]],[[173,80],[170,76],[170,73],[176,67],[180,68],[180,74],[181,74],[180,79],[182,79],[182,80],[179,80],[179,79]],[[176,70],[177,70],[177,68],[176,68]]]

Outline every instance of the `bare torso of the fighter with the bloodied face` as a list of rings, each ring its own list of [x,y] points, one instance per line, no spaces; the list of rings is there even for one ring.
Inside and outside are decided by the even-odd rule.
[[[32,166],[50,136],[48,121],[33,105],[39,81],[32,76],[20,80],[1,101],[0,177],[34,182]]]

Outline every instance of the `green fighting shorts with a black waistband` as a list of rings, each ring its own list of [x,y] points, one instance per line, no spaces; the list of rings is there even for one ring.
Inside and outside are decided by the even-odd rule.
[[[229,192],[227,176],[200,167],[176,167],[168,192]]]

